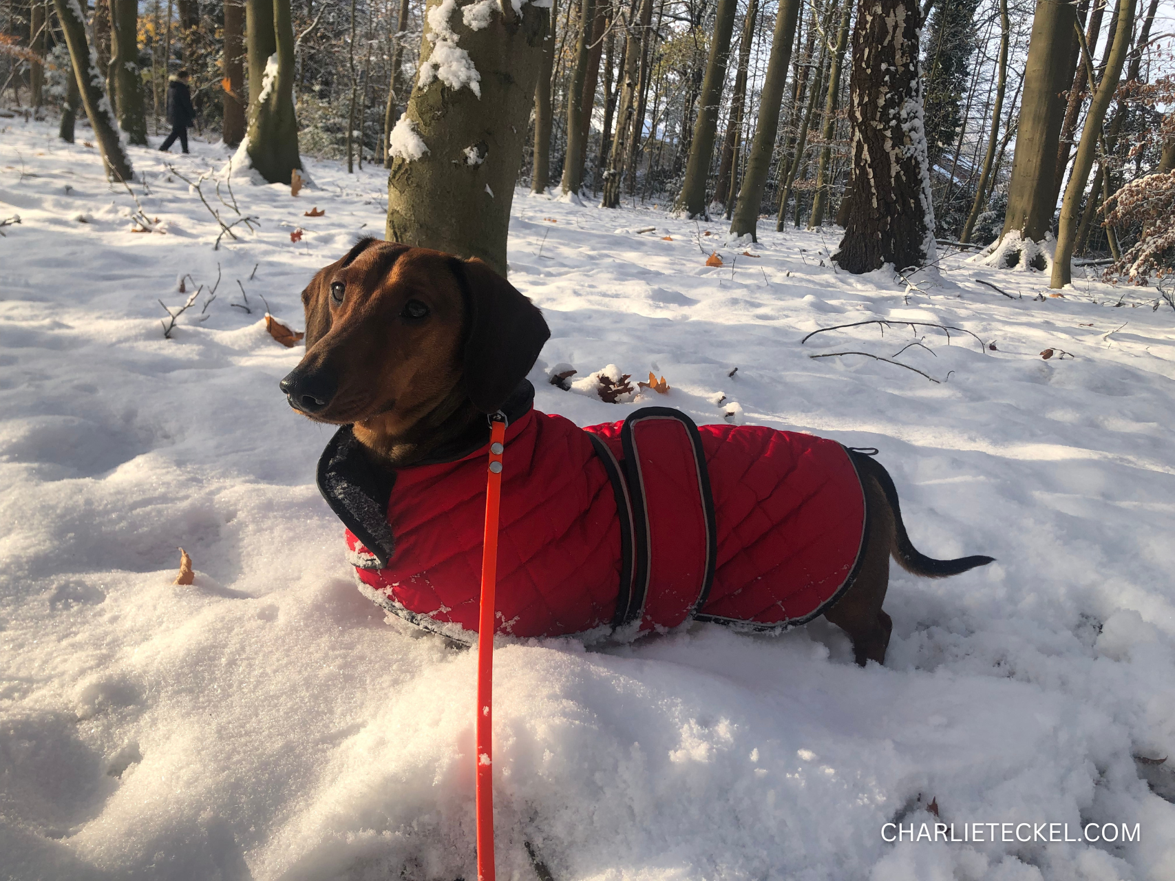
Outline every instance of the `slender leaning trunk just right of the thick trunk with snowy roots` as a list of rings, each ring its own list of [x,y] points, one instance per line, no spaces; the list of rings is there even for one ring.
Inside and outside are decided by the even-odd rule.
[[[1089,180],[1089,170],[1094,164],[1097,143],[1102,140],[1102,122],[1109,110],[1109,102],[1117,90],[1117,82],[1126,66],[1126,56],[1130,49],[1130,36],[1134,29],[1135,0],[1119,0],[1117,33],[1107,55],[1106,72],[1097,83],[1097,90],[1089,102],[1086,125],[1077,144],[1077,155],[1073,160],[1073,174],[1069,186],[1065,188],[1065,201],[1061,203],[1061,222],[1056,235],[1056,256],[1053,258],[1053,277],[1050,288],[1063,288],[1072,278],[1073,248],[1079,220],[1081,196]]]

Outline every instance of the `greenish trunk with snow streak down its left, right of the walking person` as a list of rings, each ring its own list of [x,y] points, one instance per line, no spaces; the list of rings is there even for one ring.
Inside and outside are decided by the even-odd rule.
[[[269,56],[258,82],[256,102],[249,107],[249,162],[270,183],[289,183],[290,172],[302,168],[297,149],[297,117],[294,114],[294,26],[290,21],[290,0],[248,0],[246,9],[256,9],[250,25],[260,25],[261,15],[269,7],[270,33],[276,52]],[[250,49],[253,48],[250,42]],[[253,75],[253,52],[249,53],[249,75]],[[249,82],[253,92],[253,82]]]

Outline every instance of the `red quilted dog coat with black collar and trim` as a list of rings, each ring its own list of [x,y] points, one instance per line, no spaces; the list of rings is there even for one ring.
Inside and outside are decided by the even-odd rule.
[[[524,386],[504,408],[497,632],[624,638],[691,618],[774,630],[852,583],[865,499],[840,444],[698,428],[659,406],[580,429],[535,410]],[[360,589],[464,641],[477,631],[488,445],[389,479],[343,428],[318,465]]]

